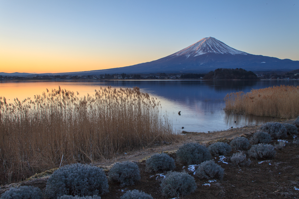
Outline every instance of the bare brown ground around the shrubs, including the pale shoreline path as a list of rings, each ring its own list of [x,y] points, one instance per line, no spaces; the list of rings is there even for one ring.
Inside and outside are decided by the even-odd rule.
[[[290,120],[286,122],[292,123]],[[119,155],[113,160],[99,162],[95,165],[102,167],[108,173],[108,169],[114,162],[133,160],[139,165],[141,175],[140,181],[132,186],[120,187],[119,183],[110,181],[109,193],[101,197],[103,199],[120,198],[125,191],[137,189],[151,194],[156,199],[174,198],[162,195],[160,181],[163,176],[161,177],[161,173],[145,172],[145,159],[147,156],[161,151],[168,151],[168,154],[175,159],[176,155],[174,151],[186,142],[199,142],[209,145],[215,141],[229,142],[233,137],[240,135],[250,138],[254,132],[259,130],[259,127],[251,126],[208,134],[186,132],[186,135],[183,136],[182,141],[179,143],[161,144],[161,146],[154,146]],[[299,198],[299,145],[292,143],[292,136],[287,137],[285,140],[288,143],[282,150],[277,150],[275,158],[266,161],[251,158],[252,163],[247,167],[238,167],[231,164],[229,157],[237,151],[232,151],[229,155],[225,156],[224,162],[228,164],[220,161],[219,157],[213,157],[216,163],[225,169],[224,178],[209,182],[207,179],[195,177],[197,190],[191,195],[179,198]],[[271,142],[273,145],[277,143],[277,140]],[[19,185],[33,185],[43,189],[45,188],[47,178],[54,170],[37,174],[20,183],[2,186],[0,187],[0,194],[10,187]],[[176,163],[175,171],[183,170],[193,176],[193,171],[188,170],[188,165]],[[165,175],[166,172],[163,174]]]

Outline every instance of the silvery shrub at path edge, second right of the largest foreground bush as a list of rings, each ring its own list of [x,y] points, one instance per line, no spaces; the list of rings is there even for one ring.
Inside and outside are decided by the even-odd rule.
[[[150,156],[145,162],[146,169],[150,172],[171,171],[175,168],[175,162],[172,157],[166,153],[158,153]]]

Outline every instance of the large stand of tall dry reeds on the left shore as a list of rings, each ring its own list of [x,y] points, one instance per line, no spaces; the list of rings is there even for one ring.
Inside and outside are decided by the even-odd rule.
[[[117,153],[175,141],[160,104],[138,87],[101,88],[78,97],[52,90],[24,101],[0,98],[0,179],[11,183],[60,164],[93,163]]]

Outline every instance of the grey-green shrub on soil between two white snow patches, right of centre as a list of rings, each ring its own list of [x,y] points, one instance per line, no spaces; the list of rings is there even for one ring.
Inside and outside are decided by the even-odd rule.
[[[202,162],[195,171],[195,175],[199,178],[218,178],[222,179],[224,175],[224,169],[220,165],[216,164],[214,160],[207,160]]]

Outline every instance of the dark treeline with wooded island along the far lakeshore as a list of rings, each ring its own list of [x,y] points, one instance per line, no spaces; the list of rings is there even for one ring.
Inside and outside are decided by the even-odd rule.
[[[299,79],[299,69],[290,72],[254,72],[242,68],[218,68],[208,73],[156,73],[156,74],[91,74],[91,75],[0,75],[1,80],[259,80],[259,79]]]

